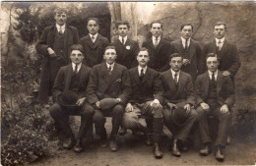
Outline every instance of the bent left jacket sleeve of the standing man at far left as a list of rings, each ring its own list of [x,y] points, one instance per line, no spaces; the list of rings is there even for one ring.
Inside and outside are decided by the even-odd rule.
[[[44,28],[39,38],[39,41],[35,45],[35,49],[37,53],[43,56],[49,56],[47,51],[47,48],[49,47],[49,45],[46,44],[47,34],[48,34],[48,28]]]

